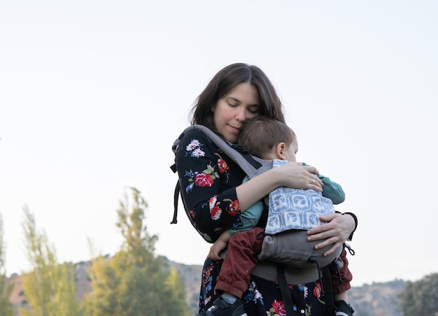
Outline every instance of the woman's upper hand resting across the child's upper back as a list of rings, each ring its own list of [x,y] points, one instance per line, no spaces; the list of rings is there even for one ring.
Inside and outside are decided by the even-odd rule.
[[[282,178],[284,178],[281,186],[323,192],[323,181],[318,178],[319,171],[315,167],[303,166],[302,162],[290,162],[279,166],[278,169],[281,170]]]

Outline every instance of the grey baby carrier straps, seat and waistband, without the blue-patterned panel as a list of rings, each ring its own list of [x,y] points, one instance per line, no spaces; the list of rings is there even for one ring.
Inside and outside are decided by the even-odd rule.
[[[249,178],[254,178],[257,175],[272,168],[272,161],[266,161],[258,157],[250,155],[246,150],[243,150],[239,145],[235,145],[225,141],[218,134],[211,131],[203,125],[194,124],[186,128],[181,136],[179,136],[172,150],[176,153],[176,149],[183,138],[184,134],[191,129],[198,129],[222,150],[222,152],[238,164],[241,169],[248,175]],[[171,166],[171,170],[176,173],[176,164]],[[178,180],[174,192],[174,217],[171,224],[176,224],[178,213],[178,200],[181,194],[181,185]],[[268,196],[264,199],[267,204]],[[183,199],[181,199],[183,200]],[[183,201],[184,202],[184,201]],[[185,207],[185,213],[189,215],[189,210]],[[190,221],[192,222],[192,221]],[[195,224],[193,224],[195,227]],[[197,229],[197,227],[195,227]],[[202,234],[200,234],[203,236]],[[210,240],[206,240],[211,243]],[[314,246],[318,242],[309,242],[305,230],[291,229],[283,231],[279,234],[267,234],[263,240],[262,252],[259,255],[259,263],[253,269],[252,274],[257,275],[267,280],[278,281],[280,284],[281,294],[285,304],[287,315],[294,315],[293,302],[290,294],[288,294],[288,282],[291,284],[306,283],[322,279],[323,295],[325,295],[326,315],[334,315],[332,284],[330,279],[330,271],[328,265],[331,264],[341,254],[341,248],[334,254],[323,256],[324,252],[330,249],[330,246],[315,250]],[[321,278],[321,270],[323,270],[324,278]]]

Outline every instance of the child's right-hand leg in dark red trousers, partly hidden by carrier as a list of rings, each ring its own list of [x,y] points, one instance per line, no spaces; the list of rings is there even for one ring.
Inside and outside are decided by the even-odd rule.
[[[343,246],[340,259],[344,263],[344,266],[337,268],[334,264],[330,264],[330,274],[332,275],[332,287],[335,301],[346,301],[346,291],[351,289],[351,280],[353,275],[348,269],[348,259],[346,257],[347,252],[345,246]]]

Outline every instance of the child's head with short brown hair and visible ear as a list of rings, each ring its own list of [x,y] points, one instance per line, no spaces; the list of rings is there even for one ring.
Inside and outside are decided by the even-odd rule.
[[[239,134],[239,145],[262,159],[296,161],[297,136],[283,122],[259,116],[248,120]]]

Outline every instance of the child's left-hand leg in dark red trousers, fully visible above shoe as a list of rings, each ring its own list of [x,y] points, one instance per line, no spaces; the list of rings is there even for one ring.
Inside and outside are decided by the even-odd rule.
[[[251,271],[257,264],[257,256],[262,251],[263,239],[264,230],[258,227],[241,231],[231,237],[227,255],[216,279],[216,290],[242,297],[248,289]]]

